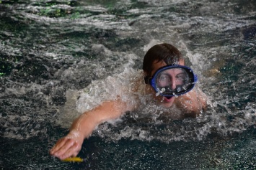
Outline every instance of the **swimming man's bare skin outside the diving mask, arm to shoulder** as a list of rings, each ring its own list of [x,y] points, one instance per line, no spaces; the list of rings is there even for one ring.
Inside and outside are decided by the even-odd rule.
[[[154,62],[153,70],[149,75],[154,75],[154,72],[160,67],[165,66],[164,62]],[[184,61],[180,61],[180,65],[184,65]],[[145,72],[146,74],[146,72]],[[147,85],[147,93],[154,94],[159,105],[166,108],[176,105],[184,113],[184,117],[195,117],[201,110],[206,109],[206,98],[203,93],[198,94],[195,90],[191,90],[185,95],[181,95],[177,98],[166,98],[162,96],[156,96],[154,89],[151,85]],[[133,108],[131,108],[133,107]],[[125,111],[133,110],[136,106],[128,107],[125,102],[121,100],[106,101],[99,105],[97,108],[83,113],[77,118],[69,129],[69,134],[59,139],[55,146],[50,149],[50,154],[58,157],[58,159],[66,159],[70,156],[76,156],[81,150],[81,145],[84,138],[88,138],[94,128],[100,123],[109,121],[115,118],[119,118]]]

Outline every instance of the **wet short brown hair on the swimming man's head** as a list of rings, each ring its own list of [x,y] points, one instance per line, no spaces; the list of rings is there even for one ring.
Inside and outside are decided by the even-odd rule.
[[[179,65],[184,60],[179,49],[171,44],[156,44],[146,52],[143,60],[143,70],[150,74],[153,62],[165,62],[167,65]]]

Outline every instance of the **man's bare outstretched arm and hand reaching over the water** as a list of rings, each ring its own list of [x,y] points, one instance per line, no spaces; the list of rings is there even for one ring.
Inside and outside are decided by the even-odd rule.
[[[73,122],[69,134],[59,139],[56,145],[50,149],[50,154],[59,159],[76,156],[81,150],[84,138],[88,138],[94,128],[100,123],[120,117],[126,110],[128,107],[123,101],[112,100],[83,113]]]

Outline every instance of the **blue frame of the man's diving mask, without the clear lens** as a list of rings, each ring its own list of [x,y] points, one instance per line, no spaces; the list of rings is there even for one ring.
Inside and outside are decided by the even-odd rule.
[[[175,69],[175,68],[180,68],[184,70],[188,77],[189,77],[189,82],[186,84],[186,88],[178,87],[179,90],[175,89],[174,91],[171,92],[165,92],[161,91],[159,88],[157,88],[156,84],[156,77],[159,75],[160,72],[163,72],[164,70],[169,70],[169,69]],[[159,95],[165,96],[165,97],[172,97],[172,96],[177,96],[177,95],[183,95],[190,90],[192,90],[195,86],[195,82],[198,81],[197,75],[194,74],[193,70],[190,67],[183,66],[183,65],[166,65],[164,67],[160,67],[152,77],[146,76],[144,77],[145,83],[151,85],[156,93],[159,93]]]

